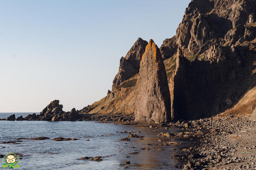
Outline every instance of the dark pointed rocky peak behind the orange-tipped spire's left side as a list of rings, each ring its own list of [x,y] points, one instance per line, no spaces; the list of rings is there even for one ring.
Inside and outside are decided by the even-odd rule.
[[[120,83],[128,80],[139,72],[140,60],[142,59],[146,46],[147,41],[138,38],[126,56],[120,59],[119,71],[113,80],[112,91],[115,87],[119,86]]]

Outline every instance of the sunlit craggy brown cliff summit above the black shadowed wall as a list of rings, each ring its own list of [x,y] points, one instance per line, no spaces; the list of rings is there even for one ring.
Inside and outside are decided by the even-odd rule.
[[[246,23],[255,22],[255,6],[255,0],[191,1],[176,31],[178,46],[187,48],[191,54],[202,54],[213,43],[224,45],[228,31],[232,33],[238,25],[244,27]],[[236,39],[242,36],[238,32],[235,34]]]

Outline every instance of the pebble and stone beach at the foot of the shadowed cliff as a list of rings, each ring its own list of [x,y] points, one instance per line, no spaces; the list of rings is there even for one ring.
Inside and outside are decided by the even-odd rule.
[[[202,137],[183,149],[182,159],[188,161],[183,169],[256,169],[256,122],[248,116],[215,116],[189,123],[185,130]]]

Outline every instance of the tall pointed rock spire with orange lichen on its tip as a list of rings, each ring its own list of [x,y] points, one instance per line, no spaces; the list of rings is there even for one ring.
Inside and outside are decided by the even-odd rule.
[[[159,48],[150,39],[136,83],[135,122],[169,122],[170,91]]]

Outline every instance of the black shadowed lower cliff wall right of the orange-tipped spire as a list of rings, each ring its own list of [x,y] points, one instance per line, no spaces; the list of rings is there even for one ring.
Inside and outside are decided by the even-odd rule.
[[[254,51],[246,51],[243,59],[235,47],[214,45],[207,53],[209,60],[192,62],[180,51],[176,71],[169,82],[173,120],[204,118],[223,112],[256,85]]]

